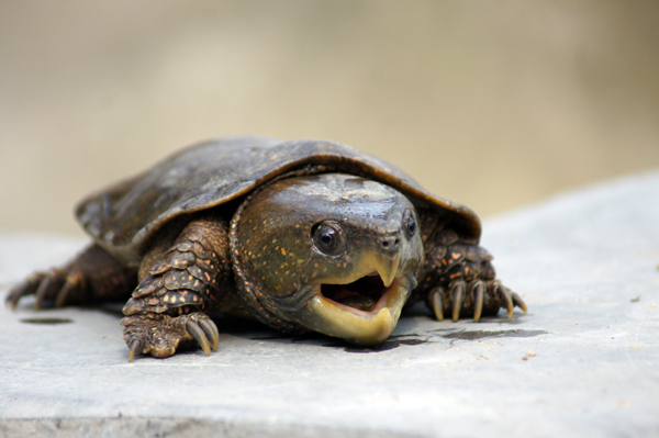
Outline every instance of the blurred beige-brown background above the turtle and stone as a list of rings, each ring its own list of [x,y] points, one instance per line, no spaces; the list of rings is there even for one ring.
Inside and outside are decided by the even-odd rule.
[[[657,1],[2,1],[0,231],[209,137],[327,138],[482,216],[659,168]],[[658,188],[659,190],[659,188]]]

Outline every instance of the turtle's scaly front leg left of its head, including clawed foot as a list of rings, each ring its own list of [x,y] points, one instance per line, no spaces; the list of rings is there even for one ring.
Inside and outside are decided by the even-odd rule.
[[[226,307],[234,288],[226,224],[196,218],[166,247],[156,243],[147,252],[139,285],[123,308],[130,361],[136,352],[166,358],[196,344],[206,355],[217,349],[219,330],[205,311]]]

